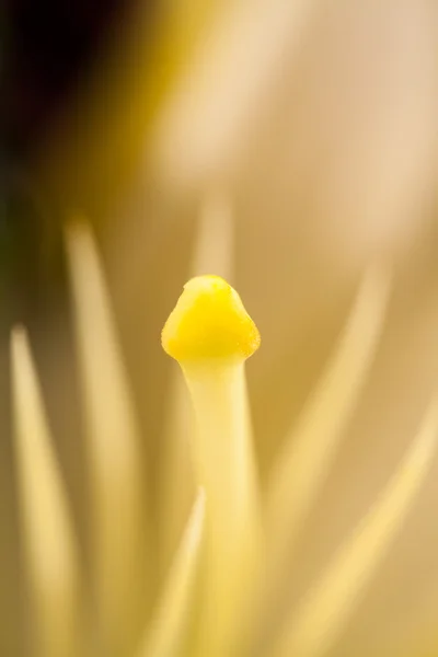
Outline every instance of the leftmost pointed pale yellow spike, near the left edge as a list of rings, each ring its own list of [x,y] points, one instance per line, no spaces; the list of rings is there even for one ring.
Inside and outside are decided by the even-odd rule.
[[[77,543],[23,328],[12,332],[11,351],[19,499],[37,654],[76,657],[81,653]]]

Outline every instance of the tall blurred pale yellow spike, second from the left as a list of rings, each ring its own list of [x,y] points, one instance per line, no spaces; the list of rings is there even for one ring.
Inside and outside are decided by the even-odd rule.
[[[148,563],[139,428],[93,238],[70,226],[67,249],[92,486],[93,572],[101,629],[118,652],[139,622]],[[112,653],[111,653],[112,654]]]

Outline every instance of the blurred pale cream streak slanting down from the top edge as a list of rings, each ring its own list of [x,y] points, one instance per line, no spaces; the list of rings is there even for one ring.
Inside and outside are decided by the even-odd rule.
[[[158,122],[154,166],[191,186],[226,171],[319,2],[231,2]]]

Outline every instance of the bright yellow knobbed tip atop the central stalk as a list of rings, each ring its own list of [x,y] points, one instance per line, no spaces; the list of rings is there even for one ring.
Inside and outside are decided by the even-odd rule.
[[[178,361],[244,359],[260,342],[238,292],[219,276],[197,276],[186,283],[161,334],[164,351]]]

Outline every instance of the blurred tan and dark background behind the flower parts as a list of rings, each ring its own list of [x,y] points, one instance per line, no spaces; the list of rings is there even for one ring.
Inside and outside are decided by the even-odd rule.
[[[157,527],[171,368],[159,336],[200,219],[212,212],[220,234],[232,217],[231,281],[263,336],[249,365],[262,484],[364,267],[393,268],[370,381],[290,577],[298,597],[388,480],[438,380],[435,0],[5,0],[2,14],[0,653],[26,655],[28,622],[9,407],[16,322],[87,561],[62,246],[78,217],[103,253]],[[436,645],[437,475],[334,656]]]

